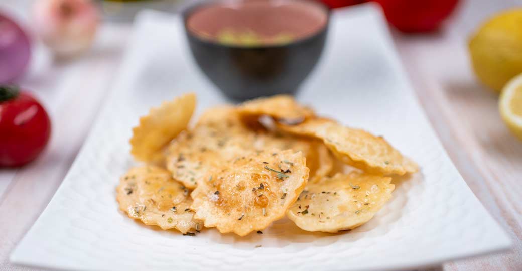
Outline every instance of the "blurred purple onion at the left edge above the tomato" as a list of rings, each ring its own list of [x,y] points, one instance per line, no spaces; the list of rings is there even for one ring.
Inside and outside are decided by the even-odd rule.
[[[0,84],[14,83],[27,69],[31,42],[17,23],[0,13]]]

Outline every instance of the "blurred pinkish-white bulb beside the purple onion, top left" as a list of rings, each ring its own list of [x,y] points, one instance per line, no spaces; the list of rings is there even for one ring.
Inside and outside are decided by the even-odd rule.
[[[89,49],[100,22],[99,11],[90,0],[38,0],[33,14],[37,33],[58,57]]]

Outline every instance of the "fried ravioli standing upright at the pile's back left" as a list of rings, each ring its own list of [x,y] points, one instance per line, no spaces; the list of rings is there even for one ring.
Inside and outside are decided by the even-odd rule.
[[[186,129],[196,107],[196,95],[188,93],[173,101],[163,102],[139,119],[133,128],[131,154],[136,160],[161,159],[160,150],[181,131]]]

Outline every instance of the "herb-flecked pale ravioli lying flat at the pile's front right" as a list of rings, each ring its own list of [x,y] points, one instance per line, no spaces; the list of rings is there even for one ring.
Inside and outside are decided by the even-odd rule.
[[[306,231],[339,232],[357,228],[392,197],[391,177],[361,172],[337,173],[309,184],[287,212]]]

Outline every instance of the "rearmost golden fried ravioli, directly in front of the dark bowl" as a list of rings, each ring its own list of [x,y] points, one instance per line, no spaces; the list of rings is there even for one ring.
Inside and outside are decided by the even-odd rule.
[[[247,101],[238,107],[242,116],[268,115],[278,121],[300,123],[314,116],[314,111],[294,100],[289,95],[276,95]]]

